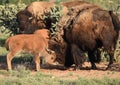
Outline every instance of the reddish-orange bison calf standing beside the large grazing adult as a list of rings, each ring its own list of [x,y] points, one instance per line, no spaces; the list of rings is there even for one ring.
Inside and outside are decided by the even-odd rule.
[[[9,50],[7,54],[8,70],[11,70],[12,58],[20,52],[28,52],[34,55],[36,63],[36,70],[40,70],[40,57],[44,57],[45,61],[52,64],[56,58],[55,52],[48,49],[48,35],[47,29],[35,31],[34,34],[19,34],[9,37],[6,40],[6,48]]]

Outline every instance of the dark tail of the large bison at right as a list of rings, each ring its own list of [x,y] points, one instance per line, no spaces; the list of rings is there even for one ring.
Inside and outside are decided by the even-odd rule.
[[[119,21],[118,16],[115,15],[115,14],[113,13],[113,11],[109,11],[109,14],[110,14],[110,16],[111,16],[111,18],[112,18],[112,23],[113,23],[113,26],[114,26],[115,30],[116,30],[117,32],[119,32],[119,30],[120,30],[120,21]]]

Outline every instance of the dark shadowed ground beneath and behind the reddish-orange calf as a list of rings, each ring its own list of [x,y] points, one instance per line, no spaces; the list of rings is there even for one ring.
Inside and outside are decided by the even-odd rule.
[[[34,69],[35,63],[32,57],[14,57],[12,59],[12,67],[15,69],[17,66],[24,66],[30,70]],[[0,70],[7,70],[6,55],[0,55]]]

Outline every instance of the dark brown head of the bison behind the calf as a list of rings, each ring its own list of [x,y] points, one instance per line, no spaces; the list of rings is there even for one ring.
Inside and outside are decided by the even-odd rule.
[[[21,33],[33,33],[36,29],[45,27],[42,20],[38,21],[27,10],[21,10],[16,16]]]

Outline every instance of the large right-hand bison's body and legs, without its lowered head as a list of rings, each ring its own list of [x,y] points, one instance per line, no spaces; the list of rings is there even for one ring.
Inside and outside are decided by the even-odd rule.
[[[104,47],[110,56],[110,67],[120,29],[118,17],[111,11],[83,1],[79,1],[79,4],[73,1],[64,5],[69,7],[69,12],[62,17],[61,21],[64,23],[60,22],[62,25],[59,27],[64,29],[63,38],[67,43],[65,66],[70,67],[75,63],[81,67],[84,53],[88,52],[91,67],[96,69],[95,53]]]

